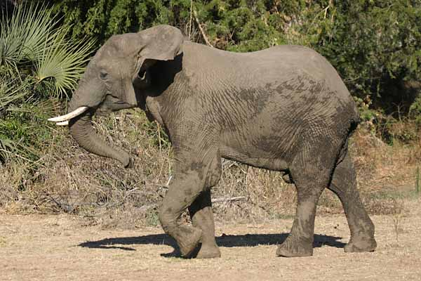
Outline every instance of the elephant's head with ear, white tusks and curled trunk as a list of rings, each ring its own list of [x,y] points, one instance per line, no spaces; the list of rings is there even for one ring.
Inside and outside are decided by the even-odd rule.
[[[92,116],[98,110],[110,112],[136,107],[142,89],[150,83],[148,67],[157,60],[173,60],[182,53],[182,41],[180,30],[168,25],[111,37],[86,67],[70,100],[69,113],[49,120],[69,124],[71,135],[82,148],[129,166],[127,152],[112,148],[98,138]]]

